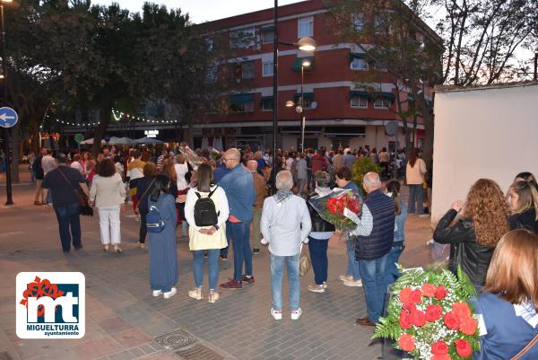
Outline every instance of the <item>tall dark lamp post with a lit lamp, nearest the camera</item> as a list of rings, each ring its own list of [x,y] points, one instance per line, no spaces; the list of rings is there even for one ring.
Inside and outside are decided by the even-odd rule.
[[[276,151],[276,134],[278,133],[278,45],[290,45],[300,50],[313,51],[317,48],[316,41],[309,37],[300,38],[296,43],[279,42],[278,40],[278,0],[274,0],[273,7],[273,194],[276,192],[276,165],[278,153]]]

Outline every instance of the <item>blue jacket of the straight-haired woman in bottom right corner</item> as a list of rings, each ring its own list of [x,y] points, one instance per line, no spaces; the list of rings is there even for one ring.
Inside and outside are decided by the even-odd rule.
[[[480,352],[474,354],[474,360],[511,359],[538,334],[538,329],[516,315],[513,304],[496,294],[482,293],[471,303],[474,312],[482,314],[488,331],[480,338]],[[536,345],[521,357],[521,360],[535,359],[538,359]]]

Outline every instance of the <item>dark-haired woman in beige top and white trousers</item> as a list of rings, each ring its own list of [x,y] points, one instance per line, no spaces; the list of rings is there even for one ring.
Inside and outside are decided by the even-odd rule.
[[[90,206],[97,206],[99,211],[100,238],[105,251],[112,243],[114,250],[121,252],[119,212],[126,209],[125,201],[126,188],[121,175],[111,159],[104,159],[91,183]]]

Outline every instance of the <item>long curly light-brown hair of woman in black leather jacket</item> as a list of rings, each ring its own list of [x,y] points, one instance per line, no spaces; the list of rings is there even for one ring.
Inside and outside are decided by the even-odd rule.
[[[501,236],[508,232],[507,201],[497,182],[489,179],[477,180],[467,195],[464,215],[473,220],[476,242],[495,246]]]

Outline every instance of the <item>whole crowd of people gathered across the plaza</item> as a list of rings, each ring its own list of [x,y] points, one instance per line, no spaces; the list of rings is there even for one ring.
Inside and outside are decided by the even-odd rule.
[[[56,154],[53,158],[49,149],[43,149],[33,166],[38,181],[35,204],[52,203],[63,250],[69,251],[71,244],[79,250],[82,241],[78,212],[81,195],[86,194],[89,205],[99,213],[103,250],[108,251],[112,245],[121,252],[120,212],[126,210],[127,200],[131,199],[134,214],[140,220],[139,247],[143,248],[150,233],[152,294],[163,294],[164,298],[177,293],[179,224],[180,236],[188,237],[193,255],[194,286],[187,295],[196,300],[206,297],[208,302],[215,303],[219,300],[219,288],[254,285],[253,254],[259,251],[260,243],[267,244],[273,290],[270,313],[274,320],[282,319],[282,280],[286,268],[289,311],[291,319],[297,320],[302,314],[302,247],[308,244],[315,279],[308,290],[325,293],[327,245],[338,231],[308,200],[325,196],[333,188],[349,189],[360,198],[360,220],[356,228],[342,233],[347,241],[347,269],[339,278],[343,285],[364,288],[368,313],[356,323],[377,324],[385,310],[387,288],[401,276],[395,263],[405,248],[406,219],[409,215],[426,215],[423,195],[427,194],[431,176],[417,149],[410,152],[402,165],[410,193],[407,204],[400,196],[401,180],[385,181],[382,173],[369,172],[364,174],[360,187],[353,181],[353,163],[360,157],[369,156],[387,166],[391,156],[385,148],[379,154],[376,149],[368,154],[362,149],[331,153],[323,147],[300,154],[280,152],[274,163],[270,152],[249,149],[197,153],[200,162],[193,164],[187,160],[187,154],[168,150],[155,155],[131,149],[122,155],[105,147],[93,159],[86,153]],[[271,192],[273,196],[269,196]],[[497,323],[489,320],[490,314],[495,313],[490,306],[502,308],[507,302],[520,306],[532,318],[533,322],[527,322],[534,324],[533,330],[538,324],[534,305],[538,298],[538,259],[528,266],[529,271],[507,270],[508,255],[499,253],[500,249],[519,251],[510,255],[510,260],[524,261],[523,257],[538,252],[537,208],[538,186],[533,174],[517,174],[506,192],[495,181],[481,179],[473,184],[465,201],[454,202],[433,233],[434,241],[450,244],[448,267],[456,271],[460,266],[481,294],[476,302],[483,315],[481,331],[488,334],[484,333],[484,341],[488,337],[496,341],[496,332],[502,333],[496,328]],[[535,242],[534,250],[525,250],[525,254],[521,252],[524,245],[514,245],[519,241],[528,247],[532,243],[529,239]],[[230,245],[233,277],[219,285],[219,259],[228,260]],[[209,264],[207,292],[205,259]],[[498,282],[497,277],[503,280]],[[517,284],[509,284],[508,278]],[[504,311],[508,322],[520,321],[513,313]],[[528,338],[532,332],[518,334]]]

